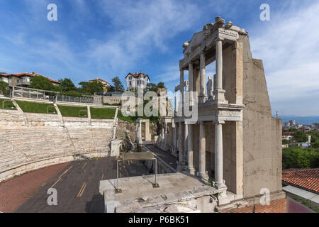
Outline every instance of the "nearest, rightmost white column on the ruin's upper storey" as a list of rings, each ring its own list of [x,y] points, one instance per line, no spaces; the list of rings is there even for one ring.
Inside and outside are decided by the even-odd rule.
[[[216,90],[215,101],[225,103],[225,90],[223,89],[223,39],[216,40]]]

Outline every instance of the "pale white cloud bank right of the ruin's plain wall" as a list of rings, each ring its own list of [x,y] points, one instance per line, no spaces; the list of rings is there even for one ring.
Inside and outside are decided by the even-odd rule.
[[[284,14],[272,14],[272,23],[264,22],[250,33],[253,57],[264,60],[273,110],[319,114],[319,107],[316,113],[305,113],[303,109],[310,104],[306,100],[318,106],[319,30],[315,27],[318,12],[319,4],[315,3]],[[293,105],[300,98],[305,101]],[[287,103],[291,109],[286,109]]]

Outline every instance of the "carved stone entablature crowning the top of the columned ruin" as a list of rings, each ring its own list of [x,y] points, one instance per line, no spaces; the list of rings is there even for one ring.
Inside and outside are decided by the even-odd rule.
[[[180,61],[179,67],[187,68],[190,61],[196,60],[202,51],[213,48],[217,39],[224,42],[234,42],[239,38],[242,30],[233,26],[232,22],[225,24],[225,20],[220,17],[215,18],[216,23],[208,23],[203,26],[203,31],[195,33],[190,41],[183,45],[184,59]]]

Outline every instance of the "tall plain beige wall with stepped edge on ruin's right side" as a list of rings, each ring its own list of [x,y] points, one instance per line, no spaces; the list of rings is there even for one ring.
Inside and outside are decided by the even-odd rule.
[[[252,58],[247,36],[243,43],[243,192],[244,196],[281,190],[281,118],[272,117],[262,60]]]

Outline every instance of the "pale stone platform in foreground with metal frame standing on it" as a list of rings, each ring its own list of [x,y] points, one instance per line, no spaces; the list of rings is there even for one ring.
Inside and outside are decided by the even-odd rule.
[[[159,187],[153,187],[155,175],[128,177],[118,180],[121,193],[116,193],[116,179],[100,182],[100,193],[108,213],[159,212],[172,209],[190,212],[213,212],[217,189],[200,182],[196,177],[180,172],[157,176]],[[174,209],[172,208],[174,206]]]

